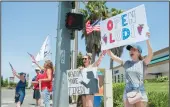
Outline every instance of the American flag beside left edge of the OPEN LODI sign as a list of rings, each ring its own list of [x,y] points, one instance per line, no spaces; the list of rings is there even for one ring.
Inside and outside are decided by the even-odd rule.
[[[87,34],[93,32],[93,31],[100,31],[100,21],[101,21],[101,19],[96,20],[92,25],[90,25],[90,20],[88,20],[86,22],[86,32],[87,32]]]

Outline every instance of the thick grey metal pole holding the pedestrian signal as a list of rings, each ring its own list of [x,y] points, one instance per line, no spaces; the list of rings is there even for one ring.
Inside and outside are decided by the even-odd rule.
[[[53,107],[69,107],[66,71],[70,69],[70,32],[65,27],[66,13],[72,9],[70,2],[59,2],[56,43],[56,69],[54,77]]]

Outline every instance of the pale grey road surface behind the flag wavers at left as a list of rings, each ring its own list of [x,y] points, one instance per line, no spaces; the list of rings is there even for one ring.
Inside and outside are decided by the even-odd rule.
[[[1,89],[1,107],[16,107],[14,94],[14,89]],[[26,90],[26,96],[22,107],[35,107],[35,100],[32,94],[33,90]],[[76,107],[76,105],[70,105],[69,107]]]

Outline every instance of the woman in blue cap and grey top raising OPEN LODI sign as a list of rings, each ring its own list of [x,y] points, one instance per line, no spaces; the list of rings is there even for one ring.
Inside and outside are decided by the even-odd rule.
[[[150,37],[150,33],[146,33]],[[142,49],[138,45],[128,45],[131,60],[123,61],[115,56],[110,50],[107,54],[116,62],[121,63],[125,69],[126,86],[124,90],[123,100],[125,107],[146,107],[148,101],[144,88],[144,73],[147,65],[152,60],[153,52],[150,41],[146,41],[148,47],[148,55],[143,58],[141,56]]]

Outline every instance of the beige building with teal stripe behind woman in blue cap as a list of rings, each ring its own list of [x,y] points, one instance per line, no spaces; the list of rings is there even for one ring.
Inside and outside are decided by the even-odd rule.
[[[152,61],[148,65],[145,79],[169,77],[169,47],[154,52]],[[124,82],[124,68],[119,65],[113,68],[113,82]]]

